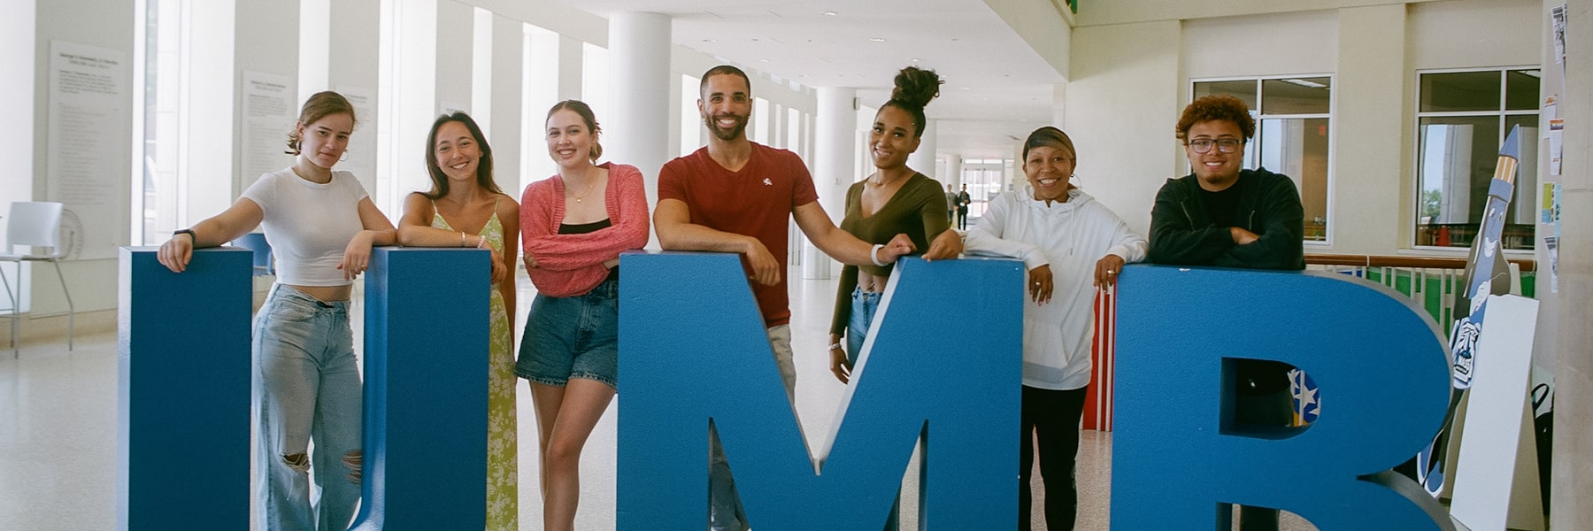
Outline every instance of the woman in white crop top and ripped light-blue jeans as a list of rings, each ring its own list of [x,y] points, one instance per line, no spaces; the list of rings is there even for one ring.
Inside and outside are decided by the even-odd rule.
[[[253,338],[256,513],[266,529],[346,529],[360,501],[362,391],[349,292],[371,246],[398,236],[352,174],[331,171],[354,123],[354,105],[338,92],[311,96],[288,132],[298,163],[261,175],[233,207],[177,231],[159,252],[162,265],[182,273],[193,249],[260,225],[277,258],[277,284]],[[314,504],[311,467],[320,491]]]

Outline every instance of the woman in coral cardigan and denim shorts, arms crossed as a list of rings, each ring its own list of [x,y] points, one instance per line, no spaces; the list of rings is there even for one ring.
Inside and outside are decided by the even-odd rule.
[[[620,252],[647,244],[647,191],[634,166],[604,163],[591,107],[548,110],[559,174],[526,187],[519,226],[537,298],[515,373],[530,381],[542,450],[543,529],[575,529],[580,456],[618,387]]]

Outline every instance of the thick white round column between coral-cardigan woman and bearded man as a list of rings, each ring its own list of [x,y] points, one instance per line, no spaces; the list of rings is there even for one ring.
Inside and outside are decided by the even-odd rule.
[[[647,196],[658,198],[658,169],[669,161],[669,16],[620,13],[609,19],[613,112],[602,121],[604,159],[636,166]],[[612,155],[610,155],[612,153]]]

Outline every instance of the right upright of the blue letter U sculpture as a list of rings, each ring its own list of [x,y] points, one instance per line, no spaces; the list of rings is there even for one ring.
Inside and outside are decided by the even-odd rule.
[[[373,250],[354,529],[486,526],[489,271],[478,249]]]

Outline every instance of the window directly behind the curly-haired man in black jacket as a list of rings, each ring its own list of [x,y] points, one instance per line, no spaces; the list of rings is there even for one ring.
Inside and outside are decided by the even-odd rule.
[[[1244,167],[1289,175],[1305,207],[1305,241],[1327,241],[1332,180],[1332,77],[1195,81],[1195,97],[1230,94],[1251,107],[1255,139]]]

